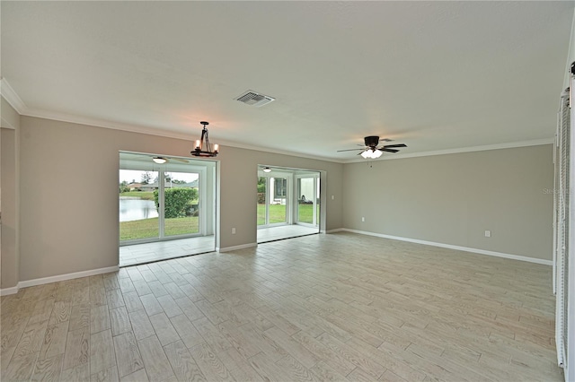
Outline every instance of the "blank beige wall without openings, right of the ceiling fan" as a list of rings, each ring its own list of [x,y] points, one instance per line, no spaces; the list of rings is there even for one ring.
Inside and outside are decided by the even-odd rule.
[[[345,228],[552,258],[552,144],[354,163],[343,177]]]

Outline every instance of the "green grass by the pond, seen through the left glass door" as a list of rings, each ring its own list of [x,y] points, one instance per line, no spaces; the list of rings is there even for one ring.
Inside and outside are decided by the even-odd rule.
[[[199,217],[166,219],[164,221],[164,230],[165,236],[198,233]],[[158,218],[119,222],[120,240],[157,238],[159,235]]]

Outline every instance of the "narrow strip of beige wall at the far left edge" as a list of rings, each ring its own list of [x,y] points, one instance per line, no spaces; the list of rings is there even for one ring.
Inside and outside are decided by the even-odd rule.
[[[19,134],[20,116],[2,98],[2,128],[0,128],[0,206],[2,229],[0,233],[0,288],[18,284],[19,273]]]

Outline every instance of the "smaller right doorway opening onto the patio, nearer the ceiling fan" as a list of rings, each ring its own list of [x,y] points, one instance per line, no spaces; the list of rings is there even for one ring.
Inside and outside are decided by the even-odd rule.
[[[258,243],[320,232],[320,178],[313,170],[258,166]]]

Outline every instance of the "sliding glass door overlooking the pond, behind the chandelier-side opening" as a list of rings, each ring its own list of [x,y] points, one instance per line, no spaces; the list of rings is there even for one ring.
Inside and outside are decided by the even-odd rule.
[[[215,163],[151,158],[120,152],[120,245],[213,235]]]

